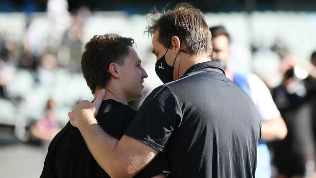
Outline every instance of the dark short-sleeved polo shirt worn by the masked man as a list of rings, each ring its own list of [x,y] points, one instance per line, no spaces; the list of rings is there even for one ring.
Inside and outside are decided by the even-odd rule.
[[[170,178],[254,178],[261,123],[222,66],[204,62],[153,90],[124,134],[164,152]]]

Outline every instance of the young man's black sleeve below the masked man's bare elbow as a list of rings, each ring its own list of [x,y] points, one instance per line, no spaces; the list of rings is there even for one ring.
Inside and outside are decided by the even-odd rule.
[[[171,173],[172,171],[166,156],[159,152],[154,160],[152,160],[145,168],[143,168],[135,176],[135,178],[151,178],[160,174],[167,176]]]

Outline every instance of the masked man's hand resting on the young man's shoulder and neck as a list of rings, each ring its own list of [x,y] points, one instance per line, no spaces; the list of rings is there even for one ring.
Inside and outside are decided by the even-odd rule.
[[[93,103],[80,101],[71,112],[68,113],[70,124],[74,127],[97,124],[95,116],[105,96],[105,89],[102,89]]]

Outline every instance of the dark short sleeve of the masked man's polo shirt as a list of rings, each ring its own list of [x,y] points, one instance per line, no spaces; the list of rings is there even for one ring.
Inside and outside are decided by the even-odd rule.
[[[162,85],[145,99],[124,135],[164,152],[181,120],[182,111],[174,92]]]

